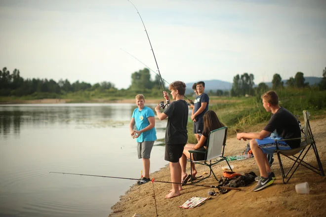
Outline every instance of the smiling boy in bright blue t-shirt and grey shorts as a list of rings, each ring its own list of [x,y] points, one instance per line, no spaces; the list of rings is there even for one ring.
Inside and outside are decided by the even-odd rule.
[[[136,96],[136,105],[138,108],[134,109],[129,125],[130,134],[132,138],[137,141],[138,158],[143,159],[144,176],[137,184],[145,184],[151,181],[150,173],[150,156],[156,138],[155,117],[154,111],[145,106],[145,97],[142,94]],[[136,124],[136,130],[134,125]]]

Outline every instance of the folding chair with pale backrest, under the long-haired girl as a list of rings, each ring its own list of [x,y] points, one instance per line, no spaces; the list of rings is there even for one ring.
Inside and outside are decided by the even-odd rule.
[[[208,134],[206,151],[189,150],[189,152],[190,152],[191,177],[193,177],[193,175],[192,175],[192,163],[201,164],[201,165],[209,167],[209,175],[208,176],[203,177],[202,179],[196,180],[196,181],[191,179],[192,183],[197,183],[199,181],[207,179],[208,177],[210,177],[211,174],[213,174],[215,179],[218,181],[218,179],[216,178],[216,176],[215,176],[215,174],[214,174],[214,172],[212,170],[212,166],[219,163],[219,162],[221,162],[221,161],[225,160],[226,163],[228,164],[229,168],[231,169],[229,162],[227,161],[226,157],[224,157],[224,147],[226,145],[225,142],[226,142],[227,131],[228,131],[227,127],[222,127],[222,128],[211,131]],[[194,161],[193,159],[191,159],[191,157],[192,157],[191,153],[204,153],[206,160]],[[215,158],[219,158],[219,160],[214,161],[212,163],[212,161]],[[232,171],[232,169],[231,169],[231,171]]]

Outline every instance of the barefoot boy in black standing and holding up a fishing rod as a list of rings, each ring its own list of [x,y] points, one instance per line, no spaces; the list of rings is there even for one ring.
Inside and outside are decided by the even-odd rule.
[[[174,81],[170,83],[169,90],[174,102],[172,102],[163,112],[160,106],[155,111],[160,120],[167,119],[165,131],[165,157],[169,161],[171,181],[181,183],[181,166],[179,159],[182,156],[184,145],[188,140],[187,123],[188,123],[188,105],[184,100],[186,84],[182,81]],[[169,95],[163,92],[164,98],[169,99]],[[172,190],[167,194],[166,198],[172,198],[180,195],[182,190],[181,184],[172,184]]]

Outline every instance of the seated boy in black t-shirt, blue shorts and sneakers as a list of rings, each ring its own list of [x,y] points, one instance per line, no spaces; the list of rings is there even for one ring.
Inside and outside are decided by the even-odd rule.
[[[259,133],[238,133],[237,139],[250,140],[250,149],[257,162],[260,172],[258,184],[253,191],[258,191],[272,184],[275,175],[271,171],[266,154],[274,153],[276,149],[290,150],[300,146],[301,132],[298,122],[291,112],[279,106],[279,97],[275,91],[271,90],[262,96],[263,106],[267,112],[272,112],[272,117],[264,129]],[[276,135],[269,137],[272,132]],[[294,139],[286,141],[275,140]]]

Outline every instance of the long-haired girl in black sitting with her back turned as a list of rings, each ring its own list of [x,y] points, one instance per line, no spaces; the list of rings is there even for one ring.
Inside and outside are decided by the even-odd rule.
[[[190,153],[189,150],[198,150],[198,151],[206,151],[207,148],[207,137],[210,131],[219,129],[221,127],[224,127],[224,125],[219,121],[216,113],[212,110],[206,111],[204,114],[204,130],[203,134],[201,136],[201,139],[197,144],[186,144],[183,149],[183,154],[180,158],[180,164],[181,164],[181,177],[182,177],[182,183],[187,183],[187,181],[192,178],[195,180],[197,171],[195,169],[195,163],[192,163],[192,174],[187,175],[186,173],[186,166],[187,166],[187,158],[190,159]],[[205,154],[204,153],[193,153],[191,156],[191,159],[194,161],[200,161],[205,160]]]

